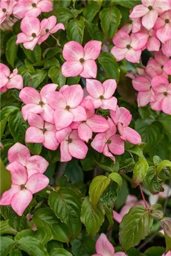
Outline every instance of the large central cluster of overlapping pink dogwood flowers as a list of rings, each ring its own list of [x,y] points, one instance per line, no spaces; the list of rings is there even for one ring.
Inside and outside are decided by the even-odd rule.
[[[42,143],[50,150],[60,145],[61,162],[76,157],[84,159],[88,147],[85,142],[100,153],[115,161],[110,153],[124,154],[124,140],[140,144],[140,135],[128,127],[132,119],[130,112],[117,106],[113,96],[117,84],[115,79],[108,79],[103,84],[94,79],[86,79],[88,96],[79,84],[62,86],[56,91],[57,84],[47,84],[40,93],[32,87],[21,90],[19,97],[24,104],[22,116],[29,122],[26,130],[26,142]],[[87,95],[87,94],[86,94]],[[110,110],[106,120],[95,109]],[[116,134],[117,129],[119,134]]]

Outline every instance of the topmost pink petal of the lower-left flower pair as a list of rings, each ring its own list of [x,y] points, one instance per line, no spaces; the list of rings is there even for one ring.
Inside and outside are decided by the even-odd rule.
[[[31,157],[29,149],[19,142],[12,145],[12,147],[10,147],[10,149],[7,152],[7,158],[10,163],[16,161],[23,165],[26,165],[26,162],[29,159],[29,157]]]

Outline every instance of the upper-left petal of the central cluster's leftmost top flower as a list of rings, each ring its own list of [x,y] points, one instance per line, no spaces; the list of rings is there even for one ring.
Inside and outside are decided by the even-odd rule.
[[[19,93],[19,98],[24,104],[34,103],[39,104],[41,96],[36,89],[32,87],[24,87]]]

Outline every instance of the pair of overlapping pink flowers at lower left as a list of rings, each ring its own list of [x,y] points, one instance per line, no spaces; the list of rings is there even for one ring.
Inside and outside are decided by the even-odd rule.
[[[8,151],[11,173],[11,189],[2,194],[0,205],[11,205],[12,209],[22,215],[32,200],[32,194],[47,187],[49,179],[43,173],[49,163],[40,155],[32,155],[25,145],[14,144]]]

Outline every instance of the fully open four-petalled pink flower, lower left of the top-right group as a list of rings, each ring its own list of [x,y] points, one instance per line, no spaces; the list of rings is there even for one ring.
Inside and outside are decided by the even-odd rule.
[[[117,61],[127,59],[133,63],[140,62],[142,48],[147,44],[149,35],[138,32],[136,34],[127,34],[119,30],[113,38],[115,46],[112,48],[111,53],[115,56]]]

